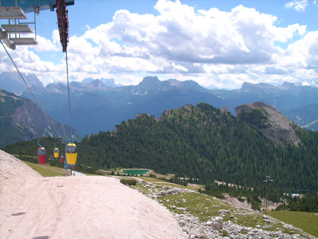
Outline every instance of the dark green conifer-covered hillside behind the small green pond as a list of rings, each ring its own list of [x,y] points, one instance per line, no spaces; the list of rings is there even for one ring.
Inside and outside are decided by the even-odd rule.
[[[157,120],[141,114],[117,131],[99,132],[78,142],[78,163],[96,168],[151,168],[159,173],[246,186],[317,190],[318,132],[296,125],[301,141],[273,143],[231,113],[208,104],[165,111]],[[12,145],[5,151],[13,152]],[[22,150],[23,151],[23,150]]]

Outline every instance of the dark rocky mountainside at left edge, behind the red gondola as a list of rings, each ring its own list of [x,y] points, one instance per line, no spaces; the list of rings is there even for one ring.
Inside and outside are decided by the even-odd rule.
[[[70,126],[48,118],[54,127],[37,104],[0,90],[0,147],[43,136],[59,137],[58,132],[61,136],[71,136]]]

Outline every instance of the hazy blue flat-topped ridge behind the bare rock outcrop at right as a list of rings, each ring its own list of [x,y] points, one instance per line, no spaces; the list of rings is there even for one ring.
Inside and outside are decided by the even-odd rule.
[[[318,125],[310,124],[318,119],[318,111],[302,111],[307,105],[318,104],[318,87],[313,86],[296,86],[290,82],[284,82],[281,87],[272,86],[265,83],[251,84],[244,82],[238,90],[212,90],[215,96],[224,100],[224,105],[233,113],[237,105],[251,104],[254,102],[264,102],[277,110],[281,111],[284,116],[295,121],[294,112],[299,112],[301,119],[304,119],[301,126],[308,125],[307,129],[318,130]],[[308,114],[311,117],[308,118]],[[299,120],[295,121],[299,123]]]

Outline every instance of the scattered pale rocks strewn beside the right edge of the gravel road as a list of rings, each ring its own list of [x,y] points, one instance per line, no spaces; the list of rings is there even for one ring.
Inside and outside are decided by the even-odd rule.
[[[156,191],[156,193],[154,193]],[[182,193],[185,194],[190,190],[185,189],[174,189],[170,187],[165,187],[165,191],[161,190],[153,190],[151,194],[148,194],[147,196],[154,199],[154,196],[161,197],[163,195],[171,195],[171,194],[177,194]],[[192,192],[192,191],[191,191]],[[206,199],[207,201],[211,201],[210,199]],[[215,199],[218,200],[218,199]],[[165,202],[171,202],[172,200],[163,200]],[[193,200],[192,200],[193,201]],[[214,200],[213,200],[214,201]],[[173,203],[184,203],[186,202],[185,199],[181,199],[180,201],[172,201]],[[206,201],[205,201],[206,202]],[[202,211],[200,212],[200,215],[204,215],[205,213],[209,213],[209,207],[211,208],[220,208],[221,205],[211,205],[209,202],[206,202],[209,205],[205,205],[205,203],[199,203],[197,207],[202,207]],[[205,207],[209,206],[209,207]],[[246,217],[246,215],[254,214],[254,212],[251,211],[241,211],[242,209],[237,208],[237,210],[219,210],[218,213],[220,216],[218,217],[211,217],[209,221],[207,222],[200,222],[198,217],[195,217],[194,215],[191,215],[188,210],[189,208],[182,208],[182,207],[176,207],[174,205],[168,205],[168,207],[173,209],[178,209],[182,214],[174,213],[175,219],[179,222],[179,225],[182,226],[182,230],[186,233],[186,238],[190,239],[196,239],[196,238],[213,238],[213,239],[314,239],[310,236],[305,236],[302,232],[302,235],[300,234],[292,234],[288,235],[284,232],[280,231],[281,229],[277,228],[276,232],[266,231],[271,226],[271,224],[268,223],[276,223],[274,219],[271,219],[267,215],[263,215],[263,221],[267,224],[261,224],[256,225],[255,228],[250,227],[244,227],[235,224],[234,222],[227,221],[225,222],[223,217],[225,215],[233,213],[234,215],[231,215],[230,217],[238,220],[235,218],[235,214],[240,214],[243,217]],[[204,211],[205,210],[205,211]],[[178,211],[177,211],[178,212]],[[255,216],[255,215],[253,215]],[[270,220],[271,219],[271,220]],[[256,217],[252,220],[253,222],[256,221]],[[283,224],[284,228],[286,229],[292,229],[297,230],[291,225]],[[222,230],[222,231],[221,231]],[[297,232],[297,231],[296,231]]]

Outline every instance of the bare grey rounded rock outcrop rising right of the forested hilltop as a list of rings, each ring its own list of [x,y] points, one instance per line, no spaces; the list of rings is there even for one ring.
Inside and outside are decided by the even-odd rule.
[[[241,105],[235,108],[235,112],[239,119],[261,131],[273,142],[289,140],[296,145],[300,143],[294,123],[266,103]]]

